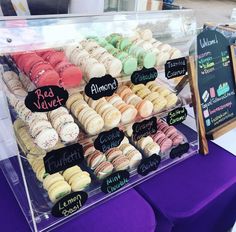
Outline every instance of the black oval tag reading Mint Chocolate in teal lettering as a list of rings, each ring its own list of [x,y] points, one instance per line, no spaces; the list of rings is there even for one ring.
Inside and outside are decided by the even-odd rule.
[[[126,170],[112,173],[106,177],[101,185],[101,190],[104,193],[113,193],[129,182],[129,172]]]

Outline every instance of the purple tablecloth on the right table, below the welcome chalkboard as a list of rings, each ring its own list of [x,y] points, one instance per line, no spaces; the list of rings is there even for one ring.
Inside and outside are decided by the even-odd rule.
[[[225,232],[236,220],[236,157],[209,143],[195,155],[139,185],[157,232]]]

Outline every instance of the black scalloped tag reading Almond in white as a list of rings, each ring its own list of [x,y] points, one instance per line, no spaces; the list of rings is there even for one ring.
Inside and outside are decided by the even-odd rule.
[[[118,81],[111,75],[90,79],[85,86],[85,94],[93,100],[112,96],[118,88]]]

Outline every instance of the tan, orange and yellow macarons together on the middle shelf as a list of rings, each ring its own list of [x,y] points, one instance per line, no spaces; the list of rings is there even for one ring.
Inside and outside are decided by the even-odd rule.
[[[176,105],[178,97],[168,88],[150,82],[145,85],[123,85],[110,97],[93,100],[75,89],[70,92],[66,107],[78,119],[89,135],[103,129],[128,124],[136,119],[149,117]]]

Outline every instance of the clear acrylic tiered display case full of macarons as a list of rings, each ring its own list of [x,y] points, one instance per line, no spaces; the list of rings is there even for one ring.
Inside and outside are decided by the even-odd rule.
[[[1,167],[32,230],[198,151],[188,81],[165,77],[195,30],[183,9],[1,19]]]

